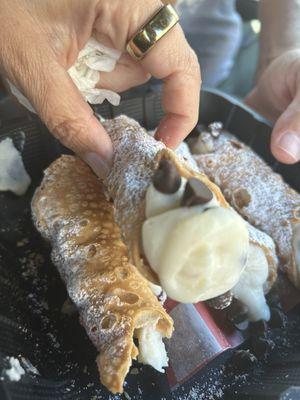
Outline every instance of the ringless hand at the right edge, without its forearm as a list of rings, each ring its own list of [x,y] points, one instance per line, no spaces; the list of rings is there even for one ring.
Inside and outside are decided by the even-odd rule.
[[[245,102],[275,122],[271,150],[285,164],[300,161],[300,50],[275,58]]]

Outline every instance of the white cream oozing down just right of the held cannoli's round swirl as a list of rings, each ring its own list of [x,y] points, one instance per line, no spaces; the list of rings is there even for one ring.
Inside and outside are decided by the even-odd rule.
[[[250,244],[245,270],[232,289],[233,296],[247,306],[249,321],[270,319],[270,309],[263,289],[268,273],[269,265],[264,251]]]

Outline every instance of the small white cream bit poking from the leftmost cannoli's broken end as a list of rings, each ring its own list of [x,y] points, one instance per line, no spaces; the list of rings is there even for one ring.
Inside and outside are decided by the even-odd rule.
[[[138,361],[165,372],[163,368],[168,366],[169,359],[161,333],[155,326],[149,325],[138,329],[136,336],[139,341]]]

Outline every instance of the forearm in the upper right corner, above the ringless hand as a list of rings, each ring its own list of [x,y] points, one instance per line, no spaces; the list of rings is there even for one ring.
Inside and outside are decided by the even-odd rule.
[[[260,0],[259,75],[283,52],[300,48],[300,1]]]

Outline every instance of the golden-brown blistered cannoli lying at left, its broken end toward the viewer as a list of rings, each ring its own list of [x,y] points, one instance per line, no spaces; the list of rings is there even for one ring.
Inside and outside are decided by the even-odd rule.
[[[73,156],[55,161],[35,192],[32,215],[99,352],[101,382],[122,392],[137,356],[163,371],[168,359],[162,338],[171,336],[173,321],[128,261],[113,205],[89,167]]]

